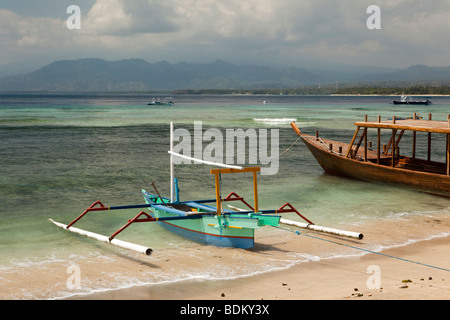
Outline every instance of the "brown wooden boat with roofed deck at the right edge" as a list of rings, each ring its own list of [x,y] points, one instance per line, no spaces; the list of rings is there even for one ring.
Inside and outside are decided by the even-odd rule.
[[[350,144],[303,134],[295,123],[292,128],[329,174],[350,178],[394,183],[434,194],[450,196],[450,115],[448,121],[413,119],[391,121],[355,122],[356,131]],[[368,130],[376,130],[376,147],[368,142]],[[388,132],[389,141],[381,147],[381,131]],[[400,142],[405,132],[412,132],[411,155],[400,154]],[[427,158],[416,157],[417,135],[427,137]],[[446,162],[431,160],[431,135],[439,134],[445,139]],[[359,137],[359,138],[358,138]],[[361,147],[363,144],[363,147]],[[408,148],[409,149],[409,148]],[[402,151],[405,148],[402,147]]]

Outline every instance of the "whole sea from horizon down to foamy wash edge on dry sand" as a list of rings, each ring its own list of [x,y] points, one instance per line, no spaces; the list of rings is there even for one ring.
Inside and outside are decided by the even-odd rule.
[[[445,197],[324,173],[290,126],[295,121],[305,133],[319,131],[321,137],[350,142],[354,122],[365,115],[375,120],[378,115],[387,119],[416,112],[446,120],[450,97],[431,97],[428,106],[408,106],[393,105],[399,97],[392,96],[173,95],[173,106],[147,105],[153,97],[0,95],[0,284],[9,288],[1,299],[63,299],[137,286],[221,281],[289,269],[311,259],[367,254],[342,246],[303,252],[302,236],[288,227],[257,230],[255,249],[243,250],[196,244],[155,223],[134,224],[117,238],[154,250],[144,256],[74,235],[49,221],[67,224],[97,200],[105,206],[142,204],[141,189],[154,191],[152,183],[169,196],[171,122],[193,139],[196,123],[202,132],[213,129],[224,136],[230,129],[276,132],[278,150],[271,156],[278,158],[277,172],[258,177],[262,209],[289,202],[315,224],[353,231],[371,223],[408,225],[410,219],[450,213]],[[201,138],[204,149],[211,142]],[[433,146],[438,146],[435,139]],[[401,148],[407,150],[408,145]],[[426,147],[419,152],[425,153]],[[445,151],[433,148],[432,159],[445,160]],[[248,156],[246,160],[250,162]],[[197,163],[175,165],[180,200],[215,197],[210,169]],[[253,201],[251,176],[229,175],[221,183],[222,196],[234,191]],[[75,226],[111,235],[139,210],[90,212]],[[299,220],[291,213],[284,217]],[[369,237],[356,245],[382,251],[449,234],[446,229],[418,228]],[[294,251],[277,250],[293,241]],[[137,274],[130,272],[136,264]],[[79,266],[78,285],[69,285],[70,266]],[[92,268],[104,271],[95,274]]]

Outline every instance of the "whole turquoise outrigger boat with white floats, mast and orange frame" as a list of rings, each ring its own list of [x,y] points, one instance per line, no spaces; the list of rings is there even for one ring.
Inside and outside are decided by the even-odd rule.
[[[172,132],[172,124],[171,124]],[[149,193],[142,190],[145,204],[133,204],[123,206],[107,207],[100,201],[94,202],[81,215],[70,222],[68,225],[55,222],[57,226],[87,237],[103,241],[122,248],[138,251],[147,255],[152,253],[152,249],[129,243],[126,241],[117,240],[115,237],[125,230],[128,226],[138,222],[157,222],[162,227],[181,235],[187,239],[200,242],[207,245],[217,247],[235,247],[248,249],[254,246],[255,230],[263,226],[278,227],[280,224],[290,225],[297,228],[304,228],[318,232],[329,233],[333,235],[349,237],[354,239],[362,239],[363,235],[358,232],[339,230],[334,228],[327,228],[315,225],[312,221],[304,217],[298,210],[296,210],[290,203],[285,203],[278,209],[260,210],[258,207],[258,189],[257,189],[257,173],[260,172],[259,167],[237,167],[219,163],[211,163],[199,159],[195,161],[204,164],[218,166],[219,168],[211,169],[210,173],[214,175],[215,179],[215,199],[205,200],[189,200],[180,201],[178,180],[173,178],[173,156],[185,157],[172,152],[172,134],[171,134],[171,196],[170,198],[162,197],[155,185],[156,194]],[[186,157],[185,157],[186,158]],[[190,157],[189,157],[190,158]],[[253,193],[254,204],[249,204],[243,197],[238,196],[235,192],[231,192],[228,196],[222,199],[220,190],[220,179],[224,174],[234,173],[251,173],[253,176]],[[239,209],[232,207],[231,209],[224,209],[223,203],[229,201],[240,201],[247,209]],[[215,206],[209,205],[214,203]],[[135,209],[145,208],[148,212],[141,211],[133,219],[113,233],[110,237],[99,235],[93,232],[85,231],[73,227],[73,225],[92,211],[105,210],[121,210],[121,209]],[[281,218],[280,214],[294,212],[305,222],[287,220]]]

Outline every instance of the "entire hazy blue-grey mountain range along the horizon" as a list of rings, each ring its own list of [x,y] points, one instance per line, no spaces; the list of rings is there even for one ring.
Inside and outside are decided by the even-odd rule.
[[[348,67],[341,70],[276,69],[235,65],[222,60],[212,63],[150,63],[143,59],[59,60],[36,71],[0,78],[0,91],[126,92],[177,89],[266,89],[321,85],[386,83],[407,86],[447,85],[449,67],[415,65],[406,69]]]

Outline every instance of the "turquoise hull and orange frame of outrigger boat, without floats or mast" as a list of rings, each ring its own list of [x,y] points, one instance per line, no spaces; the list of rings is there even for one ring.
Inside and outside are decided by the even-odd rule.
[[[213,169],[211,173],[216,177],[216,194],[220,197],[219,176],[227,173],[251,172],[253,178],[259,172],[259,167],[242,169],[222,168]],[[256,188],[256,180],[254,181]],[[178,190],[175,184],[175,190]],[[278,226],[281,216],[270,215],[273,211],[259,211],[258,198],[255,189],[255,208],[248,205],[249,211],[245,213],[233,212],[222,208],[222,201],[244,200],[234,192],[224,199],[205,199],[181,202],[178,199],[171,201],[142,190],[145,202],[150,205],[151,215],[162,227],[190,240],[214,245],[217,247],[251,248],[254,246],[254,232],[262,226]],[[178,192],[176,192],[178,193]],[[177,196],[178,198],[178,196]],[[215,202],[216,206],[208,203]],[[164,221],[166,217],[184,217]]]

